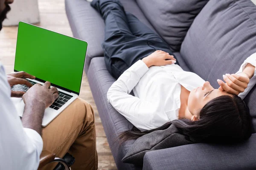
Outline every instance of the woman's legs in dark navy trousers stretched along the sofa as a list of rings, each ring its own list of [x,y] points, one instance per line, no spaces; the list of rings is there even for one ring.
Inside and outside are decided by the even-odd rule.
[[[139,24],[140,21],[128,20],[124,8],[119,0],[93,0],[91,6],[95,8],[105,20],[105,40],[102,47],[105,51],[105,63],[108,71],[116,79],[139,59],[143,59],[158,48],[163,41],[154,31]],[[131,17],[129,17],[131,18]],[[137,18],[136,18],[137,19]],[[131,26],[138,24],[131,31]],[[136,31],[140,29],[146,31]],[[137,34],[140,36],[136,36]],[[168,48],[169,49],[169,48]],[[163,50],[166,51],[166,50]],[[171,51],[166,51],[171,53]]]

